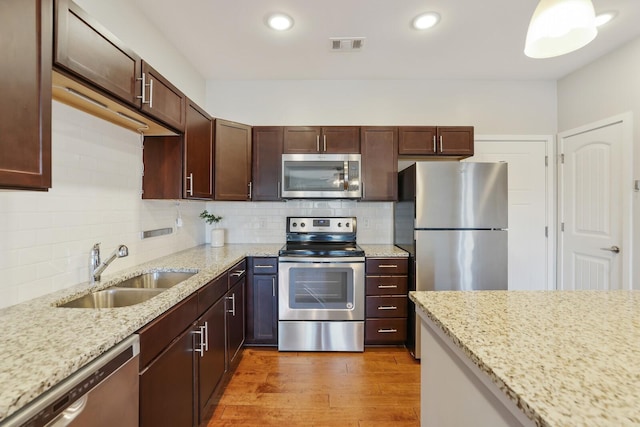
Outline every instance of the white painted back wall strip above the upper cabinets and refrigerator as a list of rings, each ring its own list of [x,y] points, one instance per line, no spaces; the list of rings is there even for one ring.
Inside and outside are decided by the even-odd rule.
[[[555,81],[208,81],[207,110],[252,125],[473,125],[556,133]]]

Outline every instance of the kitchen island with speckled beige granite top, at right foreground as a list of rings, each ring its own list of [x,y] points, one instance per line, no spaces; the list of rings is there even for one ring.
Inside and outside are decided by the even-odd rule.
[[[640,425],[640,291],[410,298],[422,426]]]

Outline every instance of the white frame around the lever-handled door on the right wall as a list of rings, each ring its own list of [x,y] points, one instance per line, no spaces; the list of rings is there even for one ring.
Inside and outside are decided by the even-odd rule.
[[[626,112],[615,116],[608,117],[606,119],[598,120],[592,123],[588,123],[577,128],[569,129],[564,132],[558,133],[558,230],[562,230],[564,224],[564,206],[563,200],[563,185],[564,185],[564,169],[563,169],[563,156],[564,156],[564,141],[567,138],[576,136],[582,133],[587,133],[604,127],[612,126],[615,124],[622,124],[622,289],[633,289],[633,271],[632,271],[632,259],[633,259],[633,113]],[[627,187],[628,185],[628,187]],[[560,281],[562,265],[560,256],[563,250],[563,234],[560,231],[557,234],[557,266],[558,272],[556,276],[556,289],[560,289]]]

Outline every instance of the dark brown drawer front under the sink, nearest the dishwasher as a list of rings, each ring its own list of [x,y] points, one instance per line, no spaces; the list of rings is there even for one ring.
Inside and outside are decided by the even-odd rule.
[[[140,369],[167,347],[198,315],[198,295],[193,294],[138,331]]]

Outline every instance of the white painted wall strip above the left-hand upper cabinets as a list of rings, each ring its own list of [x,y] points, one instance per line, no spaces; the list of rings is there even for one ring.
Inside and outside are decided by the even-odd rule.
[[[127,0],[74,2],[204,108],[204,77],[149,22],[137,6]]]

